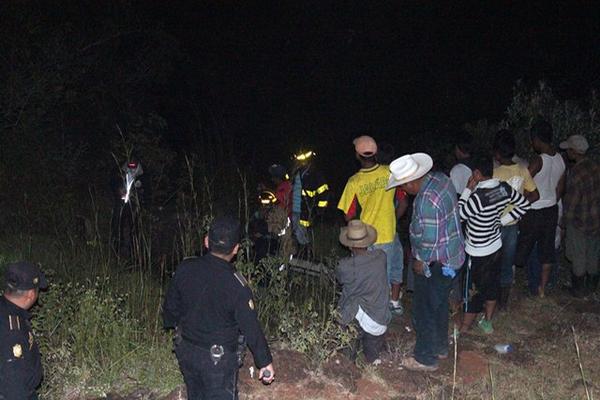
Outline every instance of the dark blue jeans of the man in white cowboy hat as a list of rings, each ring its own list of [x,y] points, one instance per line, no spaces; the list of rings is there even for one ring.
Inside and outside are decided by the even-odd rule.
[[[442,265],[429,266],[431,277],[415,274],[413,327],[417,335],[414,357],[436,365],[439,354],[448,354],[448,294],[452,280],[442,275]]]

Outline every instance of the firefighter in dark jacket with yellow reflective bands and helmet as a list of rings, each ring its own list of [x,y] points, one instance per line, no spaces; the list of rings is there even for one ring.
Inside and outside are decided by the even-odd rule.
[[[292,177],[292,223],[298,244],[309,243],[307,228],[313,224],[315,214],[328,205],[329,186],[323,175],[315,168],[312,150],[294,155],[296,165]]]

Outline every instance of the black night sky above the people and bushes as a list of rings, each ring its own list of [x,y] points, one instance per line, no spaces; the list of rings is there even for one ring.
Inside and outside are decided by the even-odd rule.
[[[392,144],[395,156],[427,151],[421,135],[449,143],[466,122],[499,121],[518,81],[531,89],[544,80],[559,98],[579,101],[598,88],[595,2],[438,3],[40,0],[0,4],[0,17],[16,38],[27,25],[22,43],[33,55],[66,49],[58,62],[44,56],[53,77],[67,60],[79,108],[69,103],[68,80],[59,80],[55,109],[39,102],[59,139],[66,132],[102,147],[92,156],[105,163],[116,123],[126,130],[131,115],[154,113],[180,155],[214,152],[195,141],[208,132],[227,138],[238,165],[266,175],[310,147],[339,186],[357,167],[358,135]],[[156,55],[143,47],[152,40]],[[137,82],[140,63],[165,73]]]

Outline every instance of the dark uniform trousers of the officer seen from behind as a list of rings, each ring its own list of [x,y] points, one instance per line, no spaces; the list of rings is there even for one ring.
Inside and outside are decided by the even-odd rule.
[[[188,400],[237,400],[238,360],[227,351],[215,365],[209,350],[182,341],[175,350]]]

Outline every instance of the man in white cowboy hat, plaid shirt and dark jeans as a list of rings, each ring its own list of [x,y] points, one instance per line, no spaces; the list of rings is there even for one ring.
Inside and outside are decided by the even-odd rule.
[[[454,271],[465,261],[456,191],[446,175],[430,172],[432,166],[425,153],[400,157],[390,164],[387,185],[415,196],[410,243],[416,258],[412,314],[417,341],[413,356],[402,363],[415,371],[435,371],[438,360],[448,357],[448,294]]]

